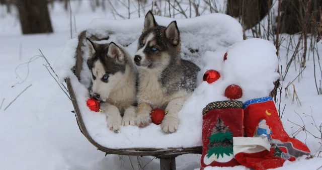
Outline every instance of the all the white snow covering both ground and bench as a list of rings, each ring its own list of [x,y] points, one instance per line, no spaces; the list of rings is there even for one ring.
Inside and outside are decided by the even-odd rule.
[[[143,18],[115,21],[107,12],[100,10],[92,12],[86,2],[81,5],[76,2],[72,4],[75,9],[77,29],[91,28],[96,34],[101,34],[101,30],[106,28],[114,29],[115,33],[110,37],[111,40],[120,44],[130,44],[127,49],[130,54],[133,54],[136,39],[142,29]],[[173,134],[164,134],[158,125],[151,124],[146,128],[121,127],[120,132],[115,134],[106,128],[105,116],[89,111],[85,106],[88,97],[87,89],[83,84],[78,83],[70,71],[74,63],[73,56],[77,39],[70,39],[69,17],[66,17],[69,14],[61,7],[61,4],[54,3],[51,9],[54,34],[22,35],[15,12],[14,14],[2,13],[0,16],[0,30],[2,30],[0,32],[2,40],[0,41],[2,51],[0,53],[2,70],[0,76],[3,89],[0,91],[2,97],[0,98],[2,102],[0,107],[0,164],[2,169],[43,169],[44,167],[46,169],[131,169],[132,164],[136,169],[139,164],[137,159],[140,159],[142,166],[146,164],[144,169],[159,168],[159,159],[153,159],[150,156],[105,156],[104,152],[97,150],[79,131],[74,114],[70,113],[74,110],[72,104],[43,66],[46,62],[40,57],[39,49],[49,63],[55,65],[59,81],[63,81],[64,77],[71,78],[73,88],[77,90],[78,105],[84,111],[82,115],[92,137],[97,142],[114,148],[201,145],[201,113],[208,103],[228,100],[223,96],[223,92],[230,84],[237,84],[243,89],[243,97],[239,99],[243,102],[268,96],[273,88],[273,81],[279,76],[275,73],[276,66],[282,64],[284,68],[287,63],[287,59],[283,57],[277,61],[276,49],[269,41],[262,39],[241,41],[241,27],[237,26],[237,22],[230,17],[212,14],[192,19],[176,19],[185,45],[182,49],[183,53],[187,53],[189,47],[202,44],[197,46],[201,49],[202,58],[196,59],[195,55],[187,57],[202,69],[198,75],[198,88],[179,112],[178,131]],[[91,21],[94,18],[96,19]],[[97,18],[108,18],[109,20]],[[216,22],[210,22],[208,18],[213,18]],[[160,25],[168,25],[173,21],[173,19],[164,17],[155,17],[155,19]],[[128,22],[132,23],[128,24]],[[204,27],[198,30],[200,25]],[[209,31],[209,27],[213,31]],[[134,36],[129,37],[129,35]],[[213,36],[218,38],[212,39]],[[76,37],[75,32],[73,32],[73,37]],[[322,52],[320,48],[318,44],[319,53]],[[223,61],[225,52],[228,54],[227,60]],[[280,53],[280,56],[285,56],[285,49],[282,48]],[[290,68],[283,81],[282,110],[284,105],[286,107],[282,122],[288,134],[297,133],[300,130],[295,137],[305,142],[315,157],[311,159],[300,157],[294,162],[287,162],[278,169],[317,169],[321,166],[319,163],[321,162],[321,154],[319,154],[322,150],[321,139],[314,137],[321,137],[318,131],[322,123],[320,114],[322,106],[319,104],[321,95],[317,95],[315,89],[312,57],[306,65],[300,78],[293,82],[301,106],[296,101],[292,102],[293,86],[289,86],[288,98],[285,97],[284,89],[287,83],[299,73],[298,65],[296,69],[294,66]],[[202,81],[203,73],[208,69],[215,69],[221,75],[211,84]],[[28,86],[30,88],[9,106]],[[300,126],[303,125],[314,136],[301,131]],[[200,156],[200,154],[178,156],[176,158],[177,169],[199,168]],[[206,169],[228,169],[228,167]],[[235,166],[229,169],[248,168]]]

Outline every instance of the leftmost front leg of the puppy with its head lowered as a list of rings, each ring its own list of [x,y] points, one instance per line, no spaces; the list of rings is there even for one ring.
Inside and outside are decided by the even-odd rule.
[[[110,128],[110,130],[113,130],[115,133],[117,133],[122,122],[119,109],[116,106],[108,103],[103,103],[101,108],[106,115],[107,126]]]

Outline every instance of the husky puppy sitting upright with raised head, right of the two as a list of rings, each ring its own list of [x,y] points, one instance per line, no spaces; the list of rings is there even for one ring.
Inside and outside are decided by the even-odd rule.
[[[151,122],[154,108],[168,111],[161,127],[166,133],[177,130],[177,113],[196,87],[199,67],[181,59],[180,36],[176,21],[159,26],[151,12],[145,16],[144,29],[138,40],[134,62],[139,71],[136,124]]]

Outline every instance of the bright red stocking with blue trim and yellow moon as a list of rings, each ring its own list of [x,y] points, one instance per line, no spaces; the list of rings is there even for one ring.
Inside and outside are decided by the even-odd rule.
[[[285,132],[271,97],[257,98],[244,104],[244,125],[247,137],[267,136],[271,141],[273,156],[290,161],[309,155],[307,146]]]

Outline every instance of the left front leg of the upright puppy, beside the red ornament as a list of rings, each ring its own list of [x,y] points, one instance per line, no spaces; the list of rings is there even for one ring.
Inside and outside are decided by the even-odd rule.
[[[136,125],[145,127],[151,123],[150,111],[152,107],[148,103],[139,103],[137,105]]]

